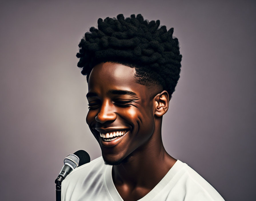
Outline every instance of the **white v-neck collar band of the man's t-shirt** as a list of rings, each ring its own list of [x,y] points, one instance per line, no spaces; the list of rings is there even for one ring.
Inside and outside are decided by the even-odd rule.
[[[184,167],[186,164],[181,162],[180,160],[177,160],[175,164],[171,167],[171,169],[167,172],[167,174],[161,179],[161,181],[143,198],[137,200],[137,201],[149,201],[152,200],[157,194],[163,190],[163,188],[169,184],[169,188],[175,185],[175,182],[170,183],[172,178],[175,176],[179,170],[181,170],[182,167]],[[114,201],[123,201],[123,198],[118,193],[114,182],[112,178],[112,167],[113,166],[106,166],[105,172],[104,172],[104,183],[106,186],[106,189],[109,193],[109,195],[112,197]]]

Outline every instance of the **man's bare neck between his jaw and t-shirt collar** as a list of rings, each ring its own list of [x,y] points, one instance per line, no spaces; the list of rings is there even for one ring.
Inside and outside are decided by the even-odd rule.
[[[153,189],[167,174],[176,160],[165,150],[161,137],[161,120],[151,138],[137,148],[119,166],[113,166],[115,185],[141,186]]]

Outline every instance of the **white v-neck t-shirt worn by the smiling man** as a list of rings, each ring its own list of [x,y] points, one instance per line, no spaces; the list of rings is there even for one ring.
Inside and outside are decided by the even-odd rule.
[[[62,201],[123,201],[112,179],[112,166],[103,158],[73,170],[62,182]],[[177,160],[164,178],[139,201],[223,201],[195,170]]]

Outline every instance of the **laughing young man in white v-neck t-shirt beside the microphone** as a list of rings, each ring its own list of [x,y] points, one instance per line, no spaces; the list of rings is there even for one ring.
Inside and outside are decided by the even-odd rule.
[[[223,200],[187,164],[163,147],[162,117],[181,68],[173,28],[139,14],[98,20],[79,43],[87,75],[86,122],[102,157],[63,181],[62,199],[99,201]]]

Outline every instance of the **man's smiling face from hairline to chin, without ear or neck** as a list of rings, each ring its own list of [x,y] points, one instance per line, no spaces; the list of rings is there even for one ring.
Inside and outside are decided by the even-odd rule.
[[[155,128],[155,91],[136,83],[134,74],[134,68],[107,62],[93,67],[89,76],[86,122],[106,164],[139,153]]]

